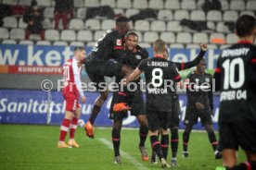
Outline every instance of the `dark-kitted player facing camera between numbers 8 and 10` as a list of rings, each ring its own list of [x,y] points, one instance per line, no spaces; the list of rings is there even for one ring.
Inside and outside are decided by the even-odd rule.
[[[211,74],[205,72],[205,67],[206,61],[202,58],[197,69],[189,73],[186,78],[187,104],[184,120],[186,128],[183,133],[183,157],[188,156],[189,135],[193,126],[198,123],[198,117],[200,117],[201,124],[208,133],[215,158],[220,159],[221,153],[217,150],[218,142],[211,121],[213,112],[212,77]]]

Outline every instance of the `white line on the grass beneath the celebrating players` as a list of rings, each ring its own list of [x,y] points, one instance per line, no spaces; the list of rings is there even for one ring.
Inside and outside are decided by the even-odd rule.
[[[109,140],[106,140],[104,138],[99,139],[103,144],[105,144],[110,150],[113,150],[113,146],[112,143]],[[134,164],[135,167],[137,167],[140,170],[148,170],[147,167],[144,166],[144,164],[140,164],[138,163],[133,156],[131,156],[130,154],[128,154],[127,152],[123,152],[122,150],[120,150],[122,157],[124,157],[125,159],[127,159],[130,163]]]

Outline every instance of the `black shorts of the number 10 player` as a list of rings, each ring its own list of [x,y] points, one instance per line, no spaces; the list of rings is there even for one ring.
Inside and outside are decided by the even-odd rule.
[[[219,123],[220,146],[237,150],[240,146],[246,152],[256,153],[256,121]]]

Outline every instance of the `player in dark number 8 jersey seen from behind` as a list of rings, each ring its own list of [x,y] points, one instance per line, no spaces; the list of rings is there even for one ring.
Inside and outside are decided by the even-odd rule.
[[[162,40],[154,42],[154,57],[143,60],[128,77],[127,82],[136,79],[144,72],[147,84],[146,115],[151,146],[160,158],[161,167],[170,167],[164,158],[166,155],[163,155],[160,147],[160,145],[168,145],[166,143],[168,140],[161,140],[160,143],[158,133],[162,128],[162,135],[169,138],[167,128],[168,115],[172,111],[172,82],[179,81],[181,77],[173,62],[167,60],[165,50],[165,42]]]

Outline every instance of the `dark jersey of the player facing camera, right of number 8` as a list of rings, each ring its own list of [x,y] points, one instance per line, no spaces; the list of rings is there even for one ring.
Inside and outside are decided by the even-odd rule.
[[[205,111],[213,109],[211,74],[196,74],[194,71],[186,77],[186,111],[197,112],[196,103],[202,103]]]

